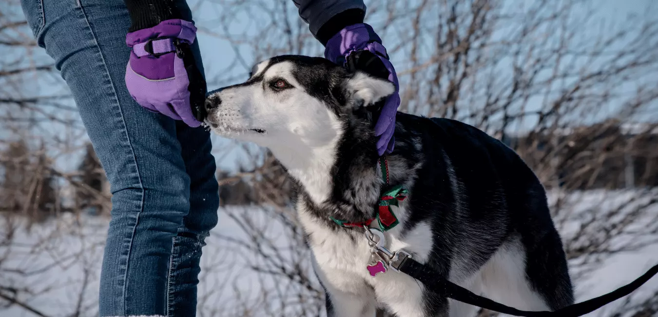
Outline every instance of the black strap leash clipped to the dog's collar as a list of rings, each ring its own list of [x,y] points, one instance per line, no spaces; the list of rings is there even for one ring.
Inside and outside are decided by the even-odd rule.
[[[436,270],[430,268],[430,266],[426,266],[414,260],[406,252],[403,252],[403,254],[401,255],[402,255],[401,259],[396,259],[395,261],[391,262],[392,268],[417,279],[418,281],[423,283],[425,287],[428,287],[433,291],[436,291],[451,299],[454,299],[455,301],[460,301],[463,303],[471,304],[473,306],[479,306],[482,308],[486,308],[488,310],[493,310],[495,312],[501,312],[503,314],[513,315],[513,316],[528,316],[528,317],[582,316],[584,314],[593,312],[594,310],[603,307],[605,304],[609,304],[613,301],[616,301],[617,299],[620,299],[630,294],[632,291],[635,291],[636,289],[638,289],[638,287],[642,286],[642,284],[646,283],[646,281],[651,279],[653,275],[658,274],[658,265],[655,265],[653,266],[653,268],[650,268],[644,275],[638,277],[638,279],[636,279],[635,281],[632,281],[627,285],[619,287],[619,289],[616,289],[615,291],[611,291],[610,293],[607,293],[605,295],[595,297],[594,299],[590,299],[582,303],[572,304],[560,308],[559,310],[555,310],[554,312],[549,312],[549,311],[528,312],[526,310],[519,310],[517,308],[505,306],[503,304],[492,301],[491,299],[487,299],[485,297],[475,295],[471,291],[468,291],[468,289],[465,289],[464,287],[461,287],[455,283],[452,283],[451,281],[448,281],[447,279],[444,279],[443,277],[440,277],[440,275],[438,274],[438,272],[436,272]]]

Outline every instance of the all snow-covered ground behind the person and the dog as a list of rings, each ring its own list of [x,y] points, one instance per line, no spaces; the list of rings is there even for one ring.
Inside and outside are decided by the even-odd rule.
[[[570,260],[578,301],[612,291],[658,263],[658,235],[655,234],[658,204],[651,201],[655,200],[655,194],[655,191],[637,190],[582,192],[566,197],[563,206],[569,208],[555,210],[555,222],[567,241],[565,246],[578,250],[592,245],[592,241],[601,245],[594,249],[597,252],[594,256],[584,255]],[[557,196],[551,194],[551,201],[554,202]],[[637,196],[644,198],[634,199]],[[647,208],[637,207],[647,205]],[[642,212],[638,213],[637,210]],[[229,217],[228,214],[238,217]],[[251,316],[265,316],[268,310],[280,309],[280,306],[268,306],[267,302],[268,299],[282,296],[281,289],[277,287],[281,282],[272,275],[253,272],[252,266],[259,261],[258,256],[250,254],[238,243],[226,243],[223,238],[251,239],[240,229],[240,223],[245,219],[240,217],[245,215],[255,221],[250,224],[251,227],[265,232],[265,237],[285,250],[281,252],[284,258],[294,258],[303,251],[286,241],[288,231],[282,229],[277,217],[267,216],[256,208],[220,210],[220,222],[207,240],[208,245],[203,252],[198,316],[245,316],[245,311],[250,311]],[[96,316],[107,219],[81,217],[76,220],[66,214],[57,220],[34,224],[29,230],[24,227],[25,223],[18,223],[18,220],[3,221],[0,235],[4,237],[5,233],[13,232],[14,236],[11,245],[0,244],[2,294],[10,294],[7,287],[14,287],[20,294],[20,302],[45,316],[73,316],[76,311],[82,312],[79,316]],[[619,225],[611,227],[605,221],[618,222]],[[12,227],[18,229],[12,230]],[[613,233],[614,237],[609,239],[608,233]],[[294,294],[294,290],[290,291],[291,283],[287,285],[286,290]],[[26,287],[29,287],[30,293],[24,292],[28,291]],[[609,304],[588,316],[613,316],[616,313],[622,313],[616,315],[620,317],[632,316],[633,310],[623,308],[618,311],[621,305],[628,307],[632,303],[641,303],[657,292],[658,277],[655,277],[628,299]],[[307,300],[314,299],[311,296]],[[16,304],[3,306],[5,303],[0,299],[0,316],[38,316]],[[282,309],[297,311],[290,307]],[[294,313],[289,315],[294,316]]]

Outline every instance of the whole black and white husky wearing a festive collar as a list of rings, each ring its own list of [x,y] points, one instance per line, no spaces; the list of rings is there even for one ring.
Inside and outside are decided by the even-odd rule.
[[[269,148],[298,185],[297,213],[326,289],[329,316],[472,316],[408,275],[372,277],[363,223],[384,187],[368,106],[393,85],[322,58],[284,55],[249,80],[209,94],[205,123],[228,138]],[[522,159],[464,123],[397,113],[390,185],[408,189],[392,207],[386,247],[404,249],[443,277],[499,303],[555,310],[574,297],[545,191]],[[333,218],[333,219],[332,219]],[[376,227],[372,223],[372,227]]]

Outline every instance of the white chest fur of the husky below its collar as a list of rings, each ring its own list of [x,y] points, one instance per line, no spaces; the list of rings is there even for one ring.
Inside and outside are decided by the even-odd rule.
[[[298,204],[299,219],[309,234],[316,274],[326,287],[336,316],[372,316],[375,306],[387,306],[398,316],[422,316],[422,286],[408,275],[387,270],[372,277],[367,270],[370,246],[363,235],[356,239],[347,230],[332,230],[318,225],[316,220]],[[404,204],[393,207],[401,223],[404,221]],[[404,249],[424,262],[432,248],[432,231],[428,223],[418,223],[400,236],[402,225],[386,231],[386,247]],[[358,232],[358,231],[357,231]],[[364,230],[365,232],[365,230]]]

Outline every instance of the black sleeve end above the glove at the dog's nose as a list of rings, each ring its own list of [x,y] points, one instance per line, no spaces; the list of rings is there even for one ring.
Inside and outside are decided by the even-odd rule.
[[[183,18],[180,6],[174,0],[124,0],[130,14],[130,29],[134,32],[152,28],[164,20]]]

